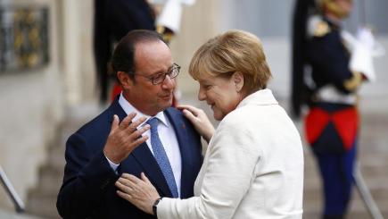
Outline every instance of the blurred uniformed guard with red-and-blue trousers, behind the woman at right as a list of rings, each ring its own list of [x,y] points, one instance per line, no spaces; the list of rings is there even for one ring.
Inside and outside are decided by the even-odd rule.
[[[352,38],[341,27],[351,9],[351,0],[298,0],[293,17],[292,111],[298,117],[308,105],[305,131],[323,180],[323,218],[343,218],[348,209],[359,134],[357,90],[376,78],[370,31]]]

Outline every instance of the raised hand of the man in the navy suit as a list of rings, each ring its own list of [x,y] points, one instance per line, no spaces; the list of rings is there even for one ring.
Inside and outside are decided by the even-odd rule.
[[[145,117],[132,122],[135,116],[135,113],[128,114],[120,124],[119,117],[116,114],[113,116],[111,132],[103,147],[103,154],[114,164],[120,164],[137,146],[148,139],[142,134],[150,129],[150,125],[146,124],[137,130],[137,126],[145,121]]]

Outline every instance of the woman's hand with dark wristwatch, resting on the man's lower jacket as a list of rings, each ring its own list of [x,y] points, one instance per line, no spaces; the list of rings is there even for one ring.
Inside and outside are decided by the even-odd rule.
[[[141,179],[123,173],[115,185],[120,189],[117,194],[147,214],[153,215],[153,203],[161,198],[151,181],[141,173]]]

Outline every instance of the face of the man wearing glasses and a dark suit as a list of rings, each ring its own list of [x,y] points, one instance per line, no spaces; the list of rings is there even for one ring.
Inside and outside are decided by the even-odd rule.
[[[149,78],[168,72],[172,66],[169,47],[161,41],[144,42],[135,46],[135,80],[124,88],[124,96],[143,114],[157,114],[172,104],[175,79],[166,76],[154,85]]]

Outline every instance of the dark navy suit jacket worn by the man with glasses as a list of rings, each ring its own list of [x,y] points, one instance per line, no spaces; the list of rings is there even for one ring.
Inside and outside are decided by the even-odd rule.
[[[202,165],[200,136],[192,124],[174,108],[164,111],[177,134],[182,156],[181,198],[194,195],[195,178]],[[120,121],[127,115],[118,98],[102,114],[70,136],[66,143],[66,166],[58,194],[58,212],[64,218],[153,218],[116,194],[114,173],[103,155],[113,114]],[[144,172],[161,197],[171,197],[169,187],[152,152],[143,143],[121,162],[119,174],[140,176]]]

